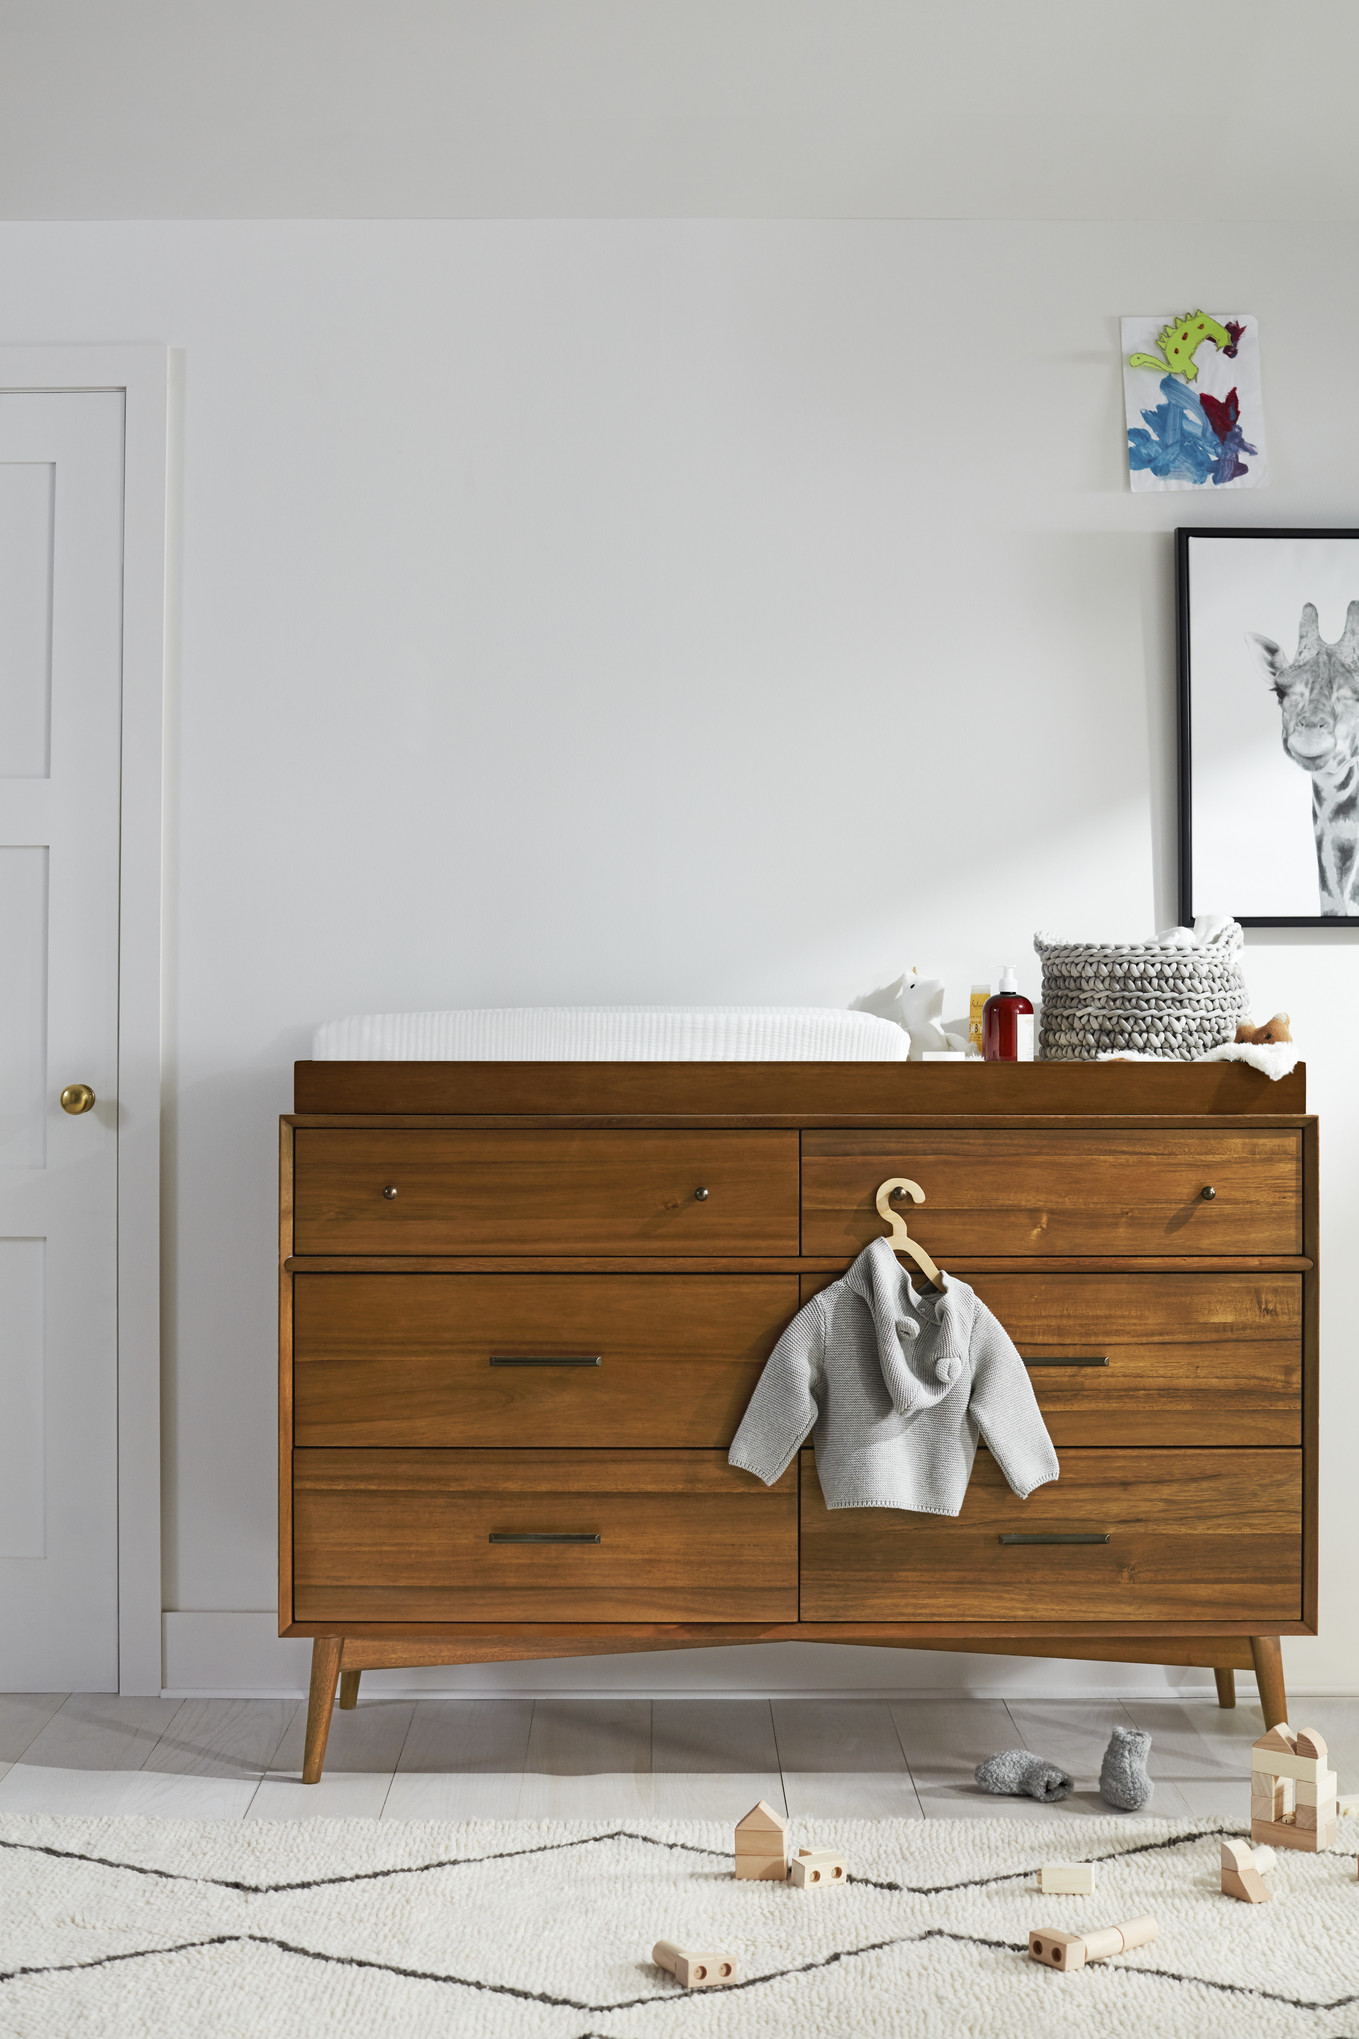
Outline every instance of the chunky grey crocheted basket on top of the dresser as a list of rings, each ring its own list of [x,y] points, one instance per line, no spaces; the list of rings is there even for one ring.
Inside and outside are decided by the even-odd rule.
[[[1220,1048],[1237,1038],[1249,1009],[1243,944],[1235,922],[1202,948],[1035,934],[1043,962],[1039,1054],[1047,1062],[1092,1062],[1098,1054],[1192,1062]]]

